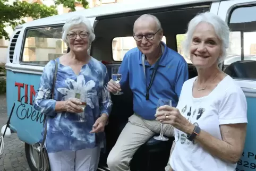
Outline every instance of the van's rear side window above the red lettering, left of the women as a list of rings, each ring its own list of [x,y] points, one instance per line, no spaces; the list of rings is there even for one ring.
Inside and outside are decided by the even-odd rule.
[[[50,60],[66,53],[62,40],[62,25],[33,28],[25,32],[21,64],[45,66]]]

